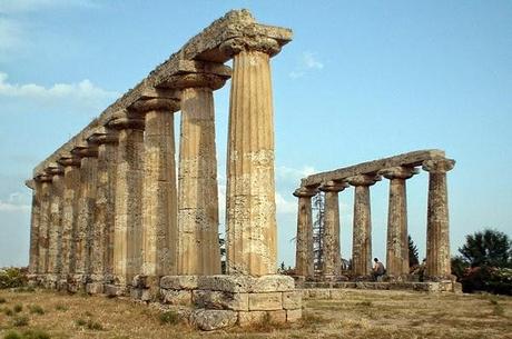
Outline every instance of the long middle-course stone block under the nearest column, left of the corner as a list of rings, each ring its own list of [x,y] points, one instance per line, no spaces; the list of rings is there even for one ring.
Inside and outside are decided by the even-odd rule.
[[[236,311],[247,311],[249,309],[248,293],[195,290],[193,291],[193,301],[196,307],[206,309]]]

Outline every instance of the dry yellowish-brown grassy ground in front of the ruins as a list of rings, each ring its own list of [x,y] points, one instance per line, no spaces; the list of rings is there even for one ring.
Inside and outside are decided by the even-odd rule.
[[[163,322],[159,311],[127,300],[42,290],[0,290],[0,339],[512,338],[512,298],[476,295],[346,290],[344,299],[305,301],[299,323],[215,332]]]

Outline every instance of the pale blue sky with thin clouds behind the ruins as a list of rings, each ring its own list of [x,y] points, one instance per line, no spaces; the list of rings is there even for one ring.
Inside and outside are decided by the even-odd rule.
[[[449,173],[452,252],[484,227],[511,236],[510,1],[0,0],[0,267],[28,261],[23,180],[32,168],[239,8],[294,30],[272,61],[279,261],[294,262],[291,193],[302,177],[427,148],[457,161]],[[215,94],[221,192],[228,88]],[[427,175],[407,185],[410,232],[424,256]],[[348,189],[345,258],[352,206]],[[372,209],[374,256],[384,257],[386,180],[373,187]]]

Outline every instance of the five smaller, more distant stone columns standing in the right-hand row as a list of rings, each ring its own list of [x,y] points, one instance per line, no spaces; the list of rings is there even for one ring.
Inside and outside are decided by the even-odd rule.
[[[454,160],[432,159],[423,162],[430,173],[426,225],[426,276],[446,278],[451,275],[449,208],[446,172]],[[408,273],[406,180],[419,172],[411,167],[393,167],[376,175],[357,175],[341,181],[325,182],[318,187],[301,187],[294,192],[298,198],[296,275],[313,277],[313,220],[312,197],[325,192],[324,247],[322,275],[326,278],[341,275],[339,203],[338,192],[348,186],[355,188],[353,219],[353,273],[366,276],[372,269],[372,225],[370,187],[390,180],[387,213],[386,270],[398,277]]]

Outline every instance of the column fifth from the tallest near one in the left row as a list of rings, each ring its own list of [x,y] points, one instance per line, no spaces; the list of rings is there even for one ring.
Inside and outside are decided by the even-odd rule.
[[[117,131],[99,128],[87,141],[98,146],[90,273],[92,281],[111,282],[114,277]]]

